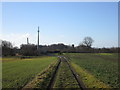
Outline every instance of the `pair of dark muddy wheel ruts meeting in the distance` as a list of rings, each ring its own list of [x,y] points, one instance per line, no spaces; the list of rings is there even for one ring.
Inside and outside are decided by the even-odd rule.
[[[52,75],[52,78],[50,80],[50,83],[49,83],[49,86],[48,86],[47,89],[49,90],[49,89],[54,88],[54,85],[55,85],[55,82],[56,82],[57,73],[58,73],[59,69],[61,68],[60,67],[61,62],[65,62],[65,64],[67,64],[67,66],[69,67],[68,69],[72,72],[73,78],[75,78],[76,82],[78,83],[79,88],[81,90],[85,90],[86,89],[85,85],[80,80],[80,77],[79,77],[79,75],[77,75],[77,73],[75,72],[74,68],[72,68],[72,66],[70,65],[69,60],[66,57],[64,57],[64,56],[58,56],[58,58],[59,58],[59,63],[57,65],[57,67],[56,67],[55,72]]]

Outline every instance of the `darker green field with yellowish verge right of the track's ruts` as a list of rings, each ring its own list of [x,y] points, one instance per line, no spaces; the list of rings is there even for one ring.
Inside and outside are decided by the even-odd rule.
[[[118,54],[69,53],[76,71],[89,88],[118,87]]]

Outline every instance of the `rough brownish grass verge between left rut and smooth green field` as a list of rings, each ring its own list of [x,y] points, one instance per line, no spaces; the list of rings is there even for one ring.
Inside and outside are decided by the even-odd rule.
[[[52,63],[43,72],[38,74],[31,82],[29,82],[24,88],[47,88],[49,86],[51,77],[58,65],[58,61]]]

